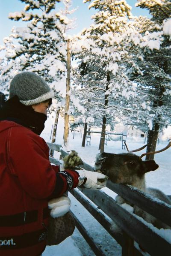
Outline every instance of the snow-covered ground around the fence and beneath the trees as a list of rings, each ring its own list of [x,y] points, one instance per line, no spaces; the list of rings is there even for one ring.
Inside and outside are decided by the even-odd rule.
[[[41,136],[46,140],[50,141],[50,132],[53,124],[53,120],[49,117],[46,121],[45,129]],[[57,129],[56,143],[63,144],[63,127],[64,120],[60,117]],[[121,131],[122,133],[122,131]],[[73,139],[74,136],[74,139]],[[69,135],[69,143],[67,150],[76,150],[79,153],[79,156],[82,160],[91,166],[94,166],[95,156],[98,151],[98,145],[100,141],[99,134],[93,134],[91,137],[91,145],[87,145],[85,143],[85,148],[81,147],[82,144],[82,133],[70,133]],[[168,144],[167,141],[159,142],[157,145],[157,150],[164,148]],[[130,150],[140,148],[144,145],[144,139],[133,139],[127,138],[127,145]],[[127,152],[124,149],[122,150],[122,142],[121,141],[108,141],[105,146],[105,152],[111,153],[124,153]],[[141,155],[144,151],[136,152],[137,155]],[[145,158],[145,157],[144,157]],[[145,159],[144,159],[145,160]],[[146,184],[147,187],[154,187],[162,190],[167,195],[171,195],[171,148],[167,149],[164,152],[155,155],[155,161],[159,164],[159,169],[154,172],[149,172],[146,174]],[[115,193],[109,191],[109,189],[103,189],[106,193],[109,193],[110,196],[115,196]],[[121,255],[121,247],[111,238],[108,233],[100,226],[97,221],[87,213],[85,208],[80,206],[76,199],[71,196],[72,201],[72,211],[77,214],[77,217],[80,217],[85,226],[95,234],[97,244],[102,244],[104,248],[104,253],[109,256],[120,256]],[[91,225],[90,225],[91,223]],[[105,241],[105,243],[104,243]],[[80,249],[79,249],[80,248]],[[46,250],[42,254],[43,256],[94,256],[94,253],[85,243],[84,239],[80,235],[77,229],[75,229],[72,237],[67,238],[61,244],[57,246],[46,247]]]

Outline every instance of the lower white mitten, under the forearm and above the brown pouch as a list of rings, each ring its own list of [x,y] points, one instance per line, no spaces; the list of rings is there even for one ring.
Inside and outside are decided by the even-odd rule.
[[[71,200],[68,196],[60,196],[58,198],[51,199],[48,202],[48,208],[52,209],[50,211],[50,216],[53,218],[64,216],[71,207]]]

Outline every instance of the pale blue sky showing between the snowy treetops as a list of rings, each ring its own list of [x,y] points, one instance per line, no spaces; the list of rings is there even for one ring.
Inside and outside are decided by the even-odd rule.
[[[89,3],[83,3],[83,0],[73,0],[73,7],[78,7],[74,12],[73,17],[77,18],[77,27],[73,30],[72,34],[78,33],[84,27],[88,27],[91,21],[91,15],[94,14],[94,9],[88,9]],[[147,10],[135,7],[136,0],[127,0],[127,3],[132,6],[133,15],[149,15]],[[24,9],[25,4],[20,0],[0,0],[0,45],[3,44],[3,38],[9,36],[12,27],[24,27],[24,21],[11,21],[8,18],[9,12],[20,12]],[[59,7],[58,7],[59,6]],[[57,3],[56,7],[62,8],[62,3]]]

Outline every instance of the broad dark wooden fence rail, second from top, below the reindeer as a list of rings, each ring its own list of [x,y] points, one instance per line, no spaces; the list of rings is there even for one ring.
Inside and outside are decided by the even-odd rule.
[[[103,191],[94,191],[92,193],[91,190],[85,189],[83,189],[83,193],[150,255],[170,255],[171,244],[153,232],[135,214],[131,214],[118,205],[106,193]]]

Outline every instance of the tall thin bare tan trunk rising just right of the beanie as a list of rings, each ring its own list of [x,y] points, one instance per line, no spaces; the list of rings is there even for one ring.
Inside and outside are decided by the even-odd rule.
[[[66,83],[66,99],[65,99],[65,125],[64,125],[64,145],[67,146],[69,135],[69,104],[70,104],[70,69],[71,69],[71,53],[70,53],[70,40],[67,43],[67,83]]]

